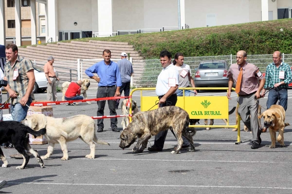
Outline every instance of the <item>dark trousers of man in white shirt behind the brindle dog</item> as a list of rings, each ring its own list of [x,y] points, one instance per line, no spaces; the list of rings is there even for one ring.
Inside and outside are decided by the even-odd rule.
[[[161,96],[161,97],[163,97],[163,96]],[[160,99],[161,97],[158,97],[158,98]],[[164,104],[161,104],[160,107],[175,106],[177,101],[178,101],[177,95],[173,94],[170,97],[168,97],[166,99],[166,102]],[[167,135],[167,131],[168,130],[160,131],[157,135],[155,135],[155,141],[154,141],[153,146],[159,147],[160,149],[163,149],[165,138]],[[173,131],[171,131],[171,132],[175,136],[174,132]],[[183,146],[188,146],[188,145],[189,145],[189,142],[187,141],[187,139],[185,137],[183,137]]]

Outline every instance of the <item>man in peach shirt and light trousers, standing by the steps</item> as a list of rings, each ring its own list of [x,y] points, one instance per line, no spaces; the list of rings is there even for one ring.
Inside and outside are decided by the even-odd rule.
[[[50,56],[48,62],[44,66],[45,76],[47,78],[47,100],[58,101],[57,97],[57,81],[59,78],[56,76],[55,68],[53,67],[54,57]]]

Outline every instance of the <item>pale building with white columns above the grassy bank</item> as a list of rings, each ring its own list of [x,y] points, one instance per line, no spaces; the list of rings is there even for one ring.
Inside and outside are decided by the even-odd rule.
[[[18,9],[24,1],[30,7],[21,7],[19,16]],[[9,3],[15,6],[7,6]],[[44,37],[46,42],[55,42],[92,36],[94,32],[110,35],[117,31],[159,31],[163,27],[177,29],[185,25],[198,28],[292,16],[292,0],[0,0],[0,5],[5,7],[4,12],[0,6],[0,44],[15,36],[17,45],[25,44],[25,37],[31,37],[31,43],[36,44],[36,40]],[[14,19],[15,24],[11,21]],[[1,27],[6,30],[3,32]]]

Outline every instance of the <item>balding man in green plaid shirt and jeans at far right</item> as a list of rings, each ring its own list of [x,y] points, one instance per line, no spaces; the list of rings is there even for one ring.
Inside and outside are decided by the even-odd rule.
[[[269,64],[266,69],[266,83],[264,85],[262,95],[266,92],[267,88],[273,88],[269,92],[267,100],[267,109],[269,109],[273,104],[279,101],[285,111],[287,110],[288,101],[288,84],[292,81],[292,74],[290,65],[282,62],[282,53],[280,51],[275,51],[273,54],[273,63]],[[265,128],[265,127],[264,127]],[[263,128],[265,132],[266,129]]]

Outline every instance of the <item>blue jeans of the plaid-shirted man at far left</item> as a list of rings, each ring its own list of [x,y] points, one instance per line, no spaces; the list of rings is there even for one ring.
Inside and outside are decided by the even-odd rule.
[[[28,106],[30,106],[32,101],[33,101],[33,99],[31,97],[29,97],[26,104]],[[20,121],[24,120],[26,117],[27,111],[28,111],[27,106],[22,106],[20,103],[17,103],[15,105],[11,104],[10,112],[11,112],[12,119],[14,121],[20,122]]]

